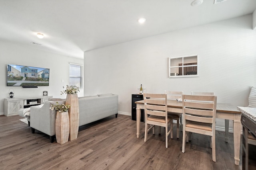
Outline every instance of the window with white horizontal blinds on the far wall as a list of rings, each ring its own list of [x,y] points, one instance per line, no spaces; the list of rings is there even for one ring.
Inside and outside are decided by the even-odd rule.
[[[83,66],[79,64],[69,64],[69,85],[83,88]]]

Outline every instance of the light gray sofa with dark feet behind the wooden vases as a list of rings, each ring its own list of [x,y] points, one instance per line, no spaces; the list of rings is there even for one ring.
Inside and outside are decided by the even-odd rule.
[[[50,99],[51,100],[51,99]],[[35,129],[50,136],[50,142],[54,142],[56,111],[50,109],[51,104],[65,104],[65,100],[52,99],[44,102],[41,108],[30,107],[31,132]],[[100,94],[78,98],[79,102],[79,126],[118,114],[118,95]],[[78,133],[79,136],[79,133]]]

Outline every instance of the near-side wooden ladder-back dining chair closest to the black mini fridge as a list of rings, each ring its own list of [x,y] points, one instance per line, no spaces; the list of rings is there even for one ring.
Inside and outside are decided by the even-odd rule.
[[[172,131],[172,118],[167,114],[167,95],[166,94],[150,94],[144,93],[145,106],[145,137],[144,141],[148,140],[148,131],[153,128],[155,134],[155,126],[165,127],[165,147],[168,148],[168,135]],[[168,131],[168,124],[170,130]],[[148,125],[150,127],[148,128]]]

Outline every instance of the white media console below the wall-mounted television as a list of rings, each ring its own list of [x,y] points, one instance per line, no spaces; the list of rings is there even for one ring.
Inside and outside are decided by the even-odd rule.
[[[52,96],[36,96],[27,98],[5,98],[4,99],[4,115],[18,115],[18,110],[44,104]]]

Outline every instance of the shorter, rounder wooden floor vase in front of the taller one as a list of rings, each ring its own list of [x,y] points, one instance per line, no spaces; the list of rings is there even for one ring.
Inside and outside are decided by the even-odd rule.
[[[55,135],[57,143],[63,144],[68,142],[69,137],[69,116],[68,112],[58,112],[56,113],[55,120]]]

